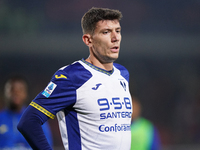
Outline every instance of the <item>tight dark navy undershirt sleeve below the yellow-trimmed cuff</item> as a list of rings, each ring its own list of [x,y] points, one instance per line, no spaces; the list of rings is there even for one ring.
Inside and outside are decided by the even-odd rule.
[[[28,106],[23,113],[17,129],[33,149],[52,150],[45,137],[42,124],[48,120],[48,117],[37,109]]]

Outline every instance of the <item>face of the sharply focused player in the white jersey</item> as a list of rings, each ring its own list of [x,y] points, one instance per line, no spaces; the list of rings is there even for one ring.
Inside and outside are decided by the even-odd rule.
[[[91,50],[101,63],[114,62],[118,58],[121,43],[121,26],[119,21],[99,21],[91,40]]]

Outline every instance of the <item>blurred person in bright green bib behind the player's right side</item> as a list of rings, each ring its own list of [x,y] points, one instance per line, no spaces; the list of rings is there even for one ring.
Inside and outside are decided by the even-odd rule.
[[[138,99],[132,97],[132,103],[131,150],[159,150],[161,143],[157,129],[149,120],[141,117]]]

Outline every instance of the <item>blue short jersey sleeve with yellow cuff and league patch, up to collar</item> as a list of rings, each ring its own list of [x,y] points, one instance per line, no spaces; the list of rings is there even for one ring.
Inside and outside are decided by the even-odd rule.
[[[90,77],[91,73],[80,63],[61,68],[30,105],[53,119],[60,110],[73,107],[76,103],[76,90]]]

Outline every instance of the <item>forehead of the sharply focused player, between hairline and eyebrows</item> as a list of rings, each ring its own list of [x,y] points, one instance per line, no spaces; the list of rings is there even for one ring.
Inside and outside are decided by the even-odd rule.
[[[95,30],[109,29],[109,28],[120,28],[120,23],[117,19],[115,20],[100,20],[96,24]]]

